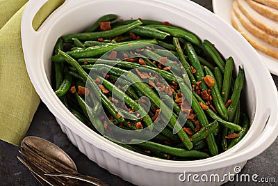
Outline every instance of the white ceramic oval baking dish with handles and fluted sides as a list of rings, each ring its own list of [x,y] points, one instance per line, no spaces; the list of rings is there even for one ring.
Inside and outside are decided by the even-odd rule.
[[[186,0],[66,0],[34,31],[32,20],[46,0],[28,1],[22,16],[22,45],[26,68],[35,90],[56,116],[63,132],[90,160],[136,185],[220,185],[216,182],[181,182],[182,173],[207,176],[238,173],[247,160],[259,155],[278,134],[277,88],[256,51],[231,26],[210,11]],[[174,162],[134,153],[99,136],[75,118],[52,91],[51,55],[56,40],[66,33],[83,31],[98,17],[114,13],[123,19],[138,17],[168,21],[211,40],[224,57],[233,56],[245,70],[248,114],[252,127],[239,144],[205,160]],[[180,177],[182,178],[182,176]]]

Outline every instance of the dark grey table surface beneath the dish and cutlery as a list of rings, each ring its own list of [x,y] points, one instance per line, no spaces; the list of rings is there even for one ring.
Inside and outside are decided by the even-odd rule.
[[[211,0],[195,0],[195,2],[212,11]],[[272,76],[276,86],[278,77]],[[47,139],[72,157],[80,173],[95,176],[106,180],[111,185],[132,185],[122,178],[115,176],[105,169],[99,167],[79,152],[60,130],[56,120],[41,102],[38,111],[35,113],[31,126],[26,136],[37,136]],[[226,183],[224,185],[277,185],[278,183],[278,139],[261,155],[249,160],[241,173],[258,174],[260,178],[275,178],[276,183]],[[19,147],[0,141],[0,185],[40,185],[26,167],[17,160]]]

